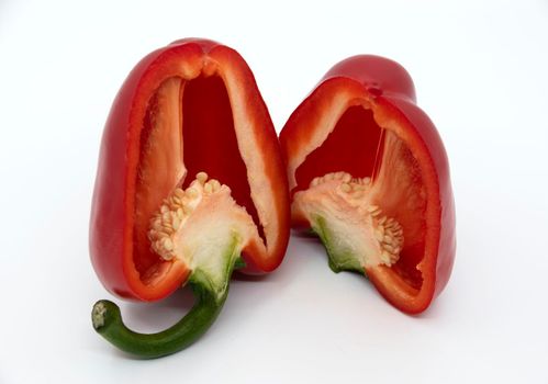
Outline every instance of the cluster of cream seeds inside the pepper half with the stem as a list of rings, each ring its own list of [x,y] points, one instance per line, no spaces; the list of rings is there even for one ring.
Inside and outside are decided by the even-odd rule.
[[[221,189],[221,183],[208,173],[199,172],[195,180],[183,191],[177,188],[165,199],[159,211],[150,219],[148,239],[152,249],[165,260],[171,260],[175,253],[174,235],[181,228],[195,210],[203,195]]]

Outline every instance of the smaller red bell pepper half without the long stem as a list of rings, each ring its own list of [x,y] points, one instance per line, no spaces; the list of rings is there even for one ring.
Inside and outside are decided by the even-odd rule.
[[[423,312],[455,258],[441,139],[403,67],[378,56],[335,65],[280,135],[292,225],[312,228],[336,272],[360,271],[399,309]]]

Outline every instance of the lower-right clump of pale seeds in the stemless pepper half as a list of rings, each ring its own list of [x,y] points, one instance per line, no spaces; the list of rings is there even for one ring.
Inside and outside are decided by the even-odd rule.
[[[387,266],[398,261],[403,248],[403,228],[393,217],[382,215],[377,205],[369,205],[367,211],[373,221],[374,238],[381,248],[380,258]]]

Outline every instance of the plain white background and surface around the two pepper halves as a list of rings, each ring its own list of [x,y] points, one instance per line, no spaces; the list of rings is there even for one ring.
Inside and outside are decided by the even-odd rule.
[[[347,56],[407,68],[458,218],[452,276],[424,315],[293,237],[186,351],[143,361],[94,334],[91,305],[112,298],[88,253],[102,127],[141,57],[184,36],[237,49],[278,129]],[[0,0],[0,383],[548,383],[547,147],[546,1]],[[190,303],[122,310],[153,331]]]

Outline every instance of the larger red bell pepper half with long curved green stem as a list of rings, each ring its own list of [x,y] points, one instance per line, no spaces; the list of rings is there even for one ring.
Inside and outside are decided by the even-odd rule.
[[[118,296],[157,301],[188,282],[197,303],[172,328],[141,335],[100,301],[96,330],[148,358],[187,347],[217,316],[234,268],[261,273],[280,264],[289,219],[278,139],[244,59],[197,38],[149,54],[107,121],[91,260]]]

